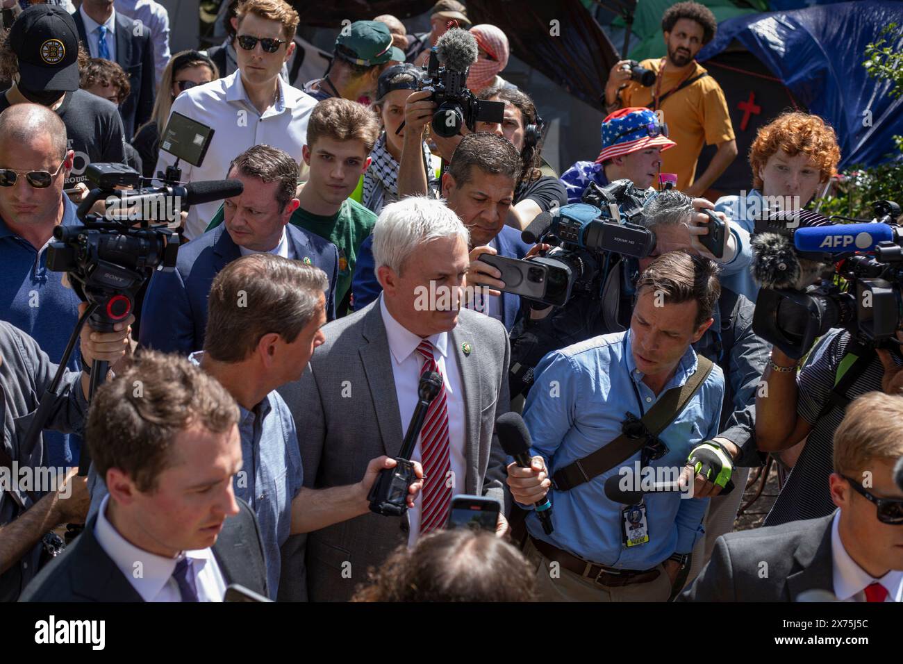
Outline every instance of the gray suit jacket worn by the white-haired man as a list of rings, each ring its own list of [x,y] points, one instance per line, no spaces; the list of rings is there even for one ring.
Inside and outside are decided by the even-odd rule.
[[[392,360],[379,300],[323,328],[326,342],[313,353],[301,380],[279,392],[298,427],[304,484],[316,489],[360,482],[367,464],[396,456],[405,428],[398,411]],[[461,370],[465,402],[467,476],[463,491],[503,501],[505,455],[493,435],[496,417],[509,409],[508,338],[498,321],[464,309],[450,348]],[[470,354],[462,346],[470,344]],[[344,396],[343,396],[344,395]],[[283,559],[280,599],[347,600],[408,537],[408,521],[366,514],[296,539]],[[291,547],[292,545],[289,545]],[[350,564],[350,566],[349,566]],[[295,587],[289,589],[286,584]]]

